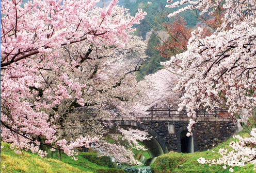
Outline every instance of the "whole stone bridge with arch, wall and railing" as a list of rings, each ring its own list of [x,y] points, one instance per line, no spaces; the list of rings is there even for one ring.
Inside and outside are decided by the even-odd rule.
[[[163,112],[163,111],[162,111]],[[203,115],[203,116],[202,116]],[[151,158],[169,151],[193,153],[204,151],[218,142],[223,142],[241,131],[241,126],[229,118],[219,116],[218,112],[206,114],[198,113],[197,123],[194,125],[193,136],[187,137],[188,117],[184,113],[173,114],[153,113],[149,117],[137,117],[136,121],[125,117],[111,119],[113,127],[131,127],[147,130],[152,137],[150,141],[142,144],[148,149]]]

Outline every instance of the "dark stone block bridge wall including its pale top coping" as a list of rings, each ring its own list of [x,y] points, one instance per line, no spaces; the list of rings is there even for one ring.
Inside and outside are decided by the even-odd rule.
[[[115,119],[112,120],[120,125],[135,126],[147,130],[149,127],[153,136],[157,136],[158,142],[161,143],[164,153],[169,151],[181,152],[181,133],[187,130],[189,118],[187,117],[145,117],[140,119],[140,123]],[[223,142],[236,132],[236,123],[224,118],[198,118],[194,125],[193,144],[194,152],[211,149],[213,144]],[[125,123],[124,123],[125,122]],[[149,129],[148,128],[148,129]],[[164,145],[162,144],[164,143]]]

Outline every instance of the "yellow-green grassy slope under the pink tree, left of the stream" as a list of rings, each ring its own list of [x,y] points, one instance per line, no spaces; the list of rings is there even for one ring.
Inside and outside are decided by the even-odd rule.
[[[9,144],[1,142],[4,148],[1,150],[1,172],[84,172],[84,173],[124,173],[122,169],[109,168],[105,166],[99,166],[95,162],[95,159],[88,161],[86,155],[90,153],[79,153],[78,160],[74,161],[67,155],[62,155],[62,161],[56,159],[40,158],[35,153],[29,153],[24,151],[23,154],[17,154],[9,148]],[[94,156],[94,153],[91,153]],[[94,156],[96,157],[96,156]],[[92,157],[92,158],[94,158]],[[56,158],[56,157],[54,157]],[[98,164],[104,165],[106,160],[102,160],[104,163],[100,163],[102,159],[98,159]],[[3,168],[2,166],[6,167]],[[111,167],[111,166],[110,166]],[[113,167],[113,166],[112,166]]]

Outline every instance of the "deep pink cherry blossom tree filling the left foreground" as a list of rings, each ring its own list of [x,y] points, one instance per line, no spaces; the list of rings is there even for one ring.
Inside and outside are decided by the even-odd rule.
[[[86,100],[88,93],[92,93],[89,85],[99,84],[103,76],[99,74],[99,80],[90,84],[81,81],[81,76],[95,78],[94,71],[109,69],[107,64],[115,61],[106,60],[108,63],[103,63],[102,68],[97,63],[89,63],[90,68],[83,71],[85,67],[80,64],[102,57],[102,52],[98,54],[100,50],[94,47],[105,46],[108,51],[109,46],[125,46],[131,37],[129,33],[134,30],[131,27],[138,24],[146,13],[139,9],[132,17],[124,9],[116,8],[116,0],[106,8],[94,7],[97,2],[35,0],[22,7],[22,1],[1,1],[1,140],[12,143],[16,152],[30,149],[43,157],[46,152],[39,146],[47,145],[73,156],[75,147],[88,146],[100,138],[84,134],[70,141],[59,139],[56,130],[61,124],[54,122],[71,113],[72,107],[92,104]],[[73,59],[69,60],[64,56],[64,49],[78,49],[89,43],[94,46],[93,56],[86,56],[91,53],[89,47],[87,54],[72,54]],[[79,70],[80,76],[75,77]],[[115,81],[117,78],[113,80],[116,82],[111,86],[113,90],[124,79],[133,78],[129,76],[132,72],[125,70],[118,76],[119,81]],[[111,75],[114,74],[107,78],[113,78]],[[112,94],[110,85],[102,87],[99,92],[108,89],[111,98],[125,100]],[[124,91],[124,88],[120,90]],[[90,95],[95,102],[98,94]],[[69,109],[63,109],[65,104]]]

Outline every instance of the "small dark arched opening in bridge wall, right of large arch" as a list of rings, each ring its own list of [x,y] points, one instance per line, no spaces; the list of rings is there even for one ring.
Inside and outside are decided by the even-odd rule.
[[[181,152],[194,153],[194,136],[187,137],[188,130],[183,130],[180,134]]]

